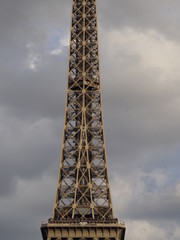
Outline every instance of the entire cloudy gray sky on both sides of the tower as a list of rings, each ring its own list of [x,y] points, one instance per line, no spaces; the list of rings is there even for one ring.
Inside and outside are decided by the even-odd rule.
[[[0,0],[0,233],[52,213],[71,0]],[[98,1],[109,172],[126,240],[180,239],[180,2]]]

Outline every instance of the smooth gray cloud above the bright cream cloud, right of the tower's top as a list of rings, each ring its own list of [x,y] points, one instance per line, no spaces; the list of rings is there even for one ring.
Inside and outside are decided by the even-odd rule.
[[[98,2],[100,20],[111,28],[133,27],[155,29],[166,37],[179,40],[179,1],[123,1]]]

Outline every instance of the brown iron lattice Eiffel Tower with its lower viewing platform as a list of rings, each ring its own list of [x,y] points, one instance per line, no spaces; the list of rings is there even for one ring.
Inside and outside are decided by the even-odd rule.
[[[106,160],[96,0],[73,0],[63,144],[52,218],[43,240],[124,240]]]

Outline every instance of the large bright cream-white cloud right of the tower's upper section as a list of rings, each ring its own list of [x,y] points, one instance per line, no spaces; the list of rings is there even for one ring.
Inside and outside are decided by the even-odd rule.
[[[113,77],[113,83],[109,81],[106,84],[118,84],[120,76],[126,73],[126,78],[131,76],[135,89],[139,83],[137,77],[144,76],[141,88],[146,84],[149,90],[156,87],[156,91],[163,89],[167,95],[177,93],[177,80],[180,78],[180,43],[169,40],[154,30],[141,32],[124,28],[105,31],[103,35],[103,49],[106,49],[108,62],[113,63],[109,74],[120,74],[116,78]],[[148,75],[151,82],[146,79]]]

